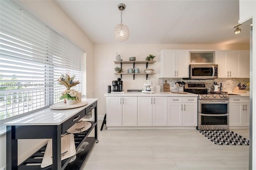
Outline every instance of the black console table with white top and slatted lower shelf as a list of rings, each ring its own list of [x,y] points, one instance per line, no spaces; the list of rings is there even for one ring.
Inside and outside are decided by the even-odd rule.
[[[6,170],[80,170],[95,143],[98,142],[97,100],[86,99],[87,105],[74,109],[45,109],[6,123]],[[94,109],[92,126],[74,134],[76,151],[83,142],[89,144],[76,154],[76,159],[61,160],[61,135]],[[93,137],[88,137],[94,131]],[[91,136],[91,135],[90,135]],[[41,168],[46,145],[18,165],[18,139],[52,139],[52,165]],[[39,157],[39,158],[38,158]],[[70,163],[69,163],[70,162]]]

